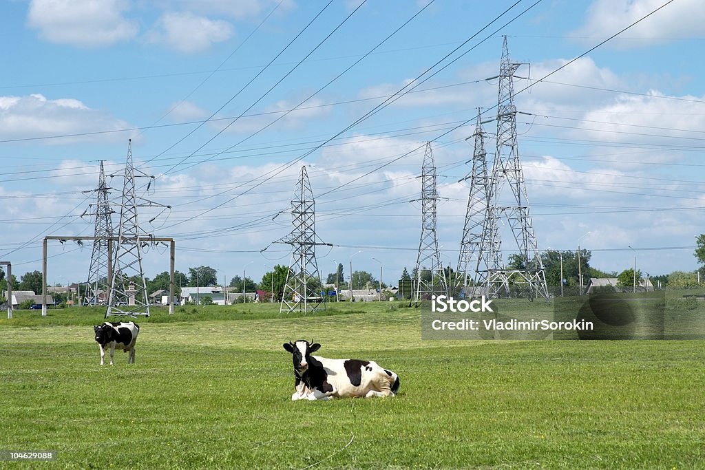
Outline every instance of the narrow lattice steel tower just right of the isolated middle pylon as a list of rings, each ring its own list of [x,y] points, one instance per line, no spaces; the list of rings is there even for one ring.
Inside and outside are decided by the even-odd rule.
[[[421,201],[421,239],[416,258],[413,295],[416,307],[422,300],[430,299],[431,295],[448,291],[436,236],[436,206],[439,193],[436,190],[436,163],[431,151],[431,142],[426,144],[421,169],[421,197],[416,199]]]

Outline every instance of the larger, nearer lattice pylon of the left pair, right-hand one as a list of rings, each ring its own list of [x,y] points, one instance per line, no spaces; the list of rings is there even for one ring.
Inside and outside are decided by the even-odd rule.
[[[125,163],[123,194],[120,205],[118,244],[115,248],[115,268],[110,284],[108,310],[105,318],[117,316],[149,316],[147,283],[142,269],[142,248],[154,244],[154,235],[143,232],[137,218],[137,207],[166,207],[142,197],[137,197],[135,178],[152,178],[135,170],[132,156],[132,140],[128,143]],[[153,219],[152,219],[153,220]]]

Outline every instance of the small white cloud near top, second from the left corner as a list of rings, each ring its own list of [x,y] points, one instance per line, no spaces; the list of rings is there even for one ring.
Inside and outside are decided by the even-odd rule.
[[[233,35],[233,27],[227,21],[210,20],[193,13],[164,13],[152,30],[147,33],[149,41],[187,54],[210,49],[216,42],[223,42]]]

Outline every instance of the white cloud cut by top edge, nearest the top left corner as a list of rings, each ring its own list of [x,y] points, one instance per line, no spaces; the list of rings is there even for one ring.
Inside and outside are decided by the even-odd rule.
[[[137,35],[135,20],[125,18],[126,0],[32,0],[27,24],[49,42],[104,47]]]

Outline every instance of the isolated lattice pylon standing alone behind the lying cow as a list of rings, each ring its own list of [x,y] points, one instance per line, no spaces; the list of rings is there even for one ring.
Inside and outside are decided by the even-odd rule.
[[[291,216],[294,228],[288,237],[280,240],[291,245],[292,252],[279,313],[302,311],[307,314],[324,310],[326,298],[321,293],[323,285],[316,263],[316,247],[333,245],[320,242],[316,235],[316,203],[305,166],[301,167],[301,177],[291,199]]]

